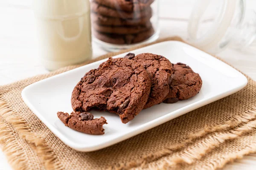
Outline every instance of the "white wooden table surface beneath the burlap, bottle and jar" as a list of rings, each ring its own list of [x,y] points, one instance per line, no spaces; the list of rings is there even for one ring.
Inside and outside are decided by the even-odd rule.
[[[194,0],[160,0],[160,38],[186,39],[187,18]],[[256,1],[247,0],[249,8]],[[32,0],[0,0],[0,85],[48,73],[38,60]],[[93,44],[93,57],[107,53]],[[218,56],[256,80],[256,55],[227,49]],[[227,164],[225,170],[256,169],[256,154]],[[11,170],[0,151],[0,170]]]

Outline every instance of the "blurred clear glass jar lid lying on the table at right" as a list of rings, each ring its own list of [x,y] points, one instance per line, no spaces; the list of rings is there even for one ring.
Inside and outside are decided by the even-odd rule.
[[[246,0],[197,0],[188,34],[191,44],[213,54],[228,46],[256,54],[256,13]]]

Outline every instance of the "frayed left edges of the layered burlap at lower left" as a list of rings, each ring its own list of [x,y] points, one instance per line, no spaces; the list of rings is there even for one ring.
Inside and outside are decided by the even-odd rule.
[[[61,164],[56,161],[56,156],[52,150],[47,146],[45,141],[40,137],[36,136],[35,133],[32,133],[30,128],[27,126],[26,122],[23,120],[21,116],[17,113],[13,112],[11,108],[7,105],[3,99],[0,98],[0,115],[6,122],[9,122],[15,130],[18,132],[19,136],[32,147],[41,161],[44,164],[45,169],[54,169],[54,170],[62,170]],[[12,133],[4,133],[7,132],[7,129],[4,125],[0,124],[0,127],[3,128],[3,133],[1,130],[0,137],[3,139],[12,139]],[[15,140],[15,139],[13,139]],[[14,142],[11,140],[11,143]],[[26,164],[23,164],[23,158],[13,157],[15,154],[13,153],[22,153],[22,148],[15,147],[15,145],[9,144],[7,140],[0,140],[0,144],[3,146],[3,152],[6,153],[8,157],[8,161],[11,163],[12,167],[16,168],[19,164],[22,164],[22,167],[26,167]],[[11,155],[11,156],[10,156]],[[11,160],[15,159],[15,162]],[[19,166],[18,166],[19,167]],[[27,168],[24,168],[27,169]]]

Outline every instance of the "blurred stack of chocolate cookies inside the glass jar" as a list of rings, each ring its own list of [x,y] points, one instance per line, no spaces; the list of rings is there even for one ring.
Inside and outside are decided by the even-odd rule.
[[[154,34],[150,22],[154,0],[92,0],[93,35],[112,44],[133,44]]]

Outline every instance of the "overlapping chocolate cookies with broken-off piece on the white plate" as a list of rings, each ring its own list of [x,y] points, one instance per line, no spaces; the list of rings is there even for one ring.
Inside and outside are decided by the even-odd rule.
[[[195,96],[201,86],[199,74],[186,64],[172,64],[157,54],[129,53],[124,58],[109,58],[99,68],[87,72],[72,92],[74,112],[57,115],[74,130],[104,134],[106,119],[93,119],[88,111],[116,113],[122,123],[128,123],[143,109]]]

